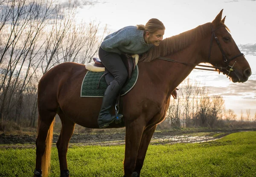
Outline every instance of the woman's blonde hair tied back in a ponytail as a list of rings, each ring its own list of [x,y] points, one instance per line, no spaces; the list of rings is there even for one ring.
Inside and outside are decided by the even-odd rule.
[[[146,25],[137,25],[137,29],[143,30],[144,32],[148,31],[149,33],[154,33],[157,30],[165,30],[165,26],[160,20],[151,18]]]

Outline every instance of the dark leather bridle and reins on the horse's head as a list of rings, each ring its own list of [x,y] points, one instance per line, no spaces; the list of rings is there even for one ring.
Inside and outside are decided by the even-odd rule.
[[[195,69],[201,69],[201,70],[207,70],[207,71],[217,71],[217,69],[218,69],[218,71],[220,72],[220,70],[224,70],[224,69],[225,69],[225,70],[229,71],[229,73],[228,73],[228,75],[227,75],[227,77],[228,77],[232,71],[235,71],[235,70],[233,69],[233,67],[234,67],[234,65],[236,64],[236,61],[235,61],[235,63],[233,64],[233,66],[229,66],[228,63],[229,63],[231,60],[234,60],[234,59],[237,58],[237,57],[240,57],[240,56],[242,56],[242,55],[244,56],[244,54],[240,52],[240,54],[238,54],[238,55],[236,55],[236,56],[234,56],[234,57],[232,57],[232,58],[230,58],[230,59],[227,57],[226,53],[224,52],[224,50],[223,50],[222,47],[221,47],[221,44],[220,44],[220,41],[218,40],[218,37],[217,37],[216,34],[215,34],[215,30],[217,30],[217,29],[219,29],[219,28],[221,28],[221,27],[225,27],[225,26],[222,25],[222,26],[219,26],[219,27],[213,29],[213,28],[212,28],[212,25],[211,25],[211,28],[212,28],[212,31],[211,31],[212,37],[211,37],[211,41],[210,41],[208,62],[209,62],[210,57],[211,57],[212,41],[213,41],[213,38],[214,38],[215,41],[216,41],[217,44],[218,44],[219,49],[221,50],[221,54],[222,54],[222,57],[223,57],[224,62],[226,63],[226,67],[217,66],[217,65],[216,65],[216,66],[199,65],[199,64],[195,64],[195,63],[181,62],[181,61],[177,61],[177,60],[173,60],[173,59],[165,58],[165,57],[157,57],[157,58],[159,58],[159,59],[161,59],[161,60],[166,60],[166,61],[170,61],[170,62],[174,62],[174,63],[182,63],[182,64],[186,64],[186,65],[191,65],[191,66],[201,66],[201,67],[206,67],[206,68],[214,68],[214,69],[195,68]],[[226,28],[226,27],[225,27],[225,28]]]

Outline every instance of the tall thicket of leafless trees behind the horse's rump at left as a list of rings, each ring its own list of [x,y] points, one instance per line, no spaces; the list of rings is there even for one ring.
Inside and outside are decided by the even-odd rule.
[[[16,122],[22,117],[21,120],[29,122],[24,122],[24,126],[34,127],[40,77],[56,64],[90,60],[105,35],[105,30],[98,34],[99,24],[95,22],[77,25],[72,3],[69,6],[54,3],[0,0],[2,122],[3,116]]]

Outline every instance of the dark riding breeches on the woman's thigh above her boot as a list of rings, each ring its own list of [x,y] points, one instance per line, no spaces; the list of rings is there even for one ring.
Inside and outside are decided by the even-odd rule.
[[[100,47],[99,59],[108,69],[108,71],[113,75],[119,85],[122,86],[128,77],[128,73],[120,55],[117,53],[105,51]]]

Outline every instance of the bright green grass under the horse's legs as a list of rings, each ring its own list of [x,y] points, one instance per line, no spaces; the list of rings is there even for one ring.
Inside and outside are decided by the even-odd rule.
[[[70,177],[122,177],[125,146],[72,146]],[[0,149],[0,177],[31,177],[35,149]],[[50,177],[59,176],[52,148]],[[151,145],[141,177],[256,177],[256,131],[206,143]]]

